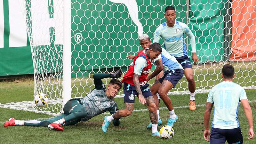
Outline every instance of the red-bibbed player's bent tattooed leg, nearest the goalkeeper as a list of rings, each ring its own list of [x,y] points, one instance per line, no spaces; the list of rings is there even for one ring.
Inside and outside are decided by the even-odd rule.
[[[134,103],[125,102],[124,104],[125,104],[125,109],[116,111],[116,113],[113,114],[114,119],[125,117],[125,116],[130,116],[132,114],[132,111],[134,108]]]

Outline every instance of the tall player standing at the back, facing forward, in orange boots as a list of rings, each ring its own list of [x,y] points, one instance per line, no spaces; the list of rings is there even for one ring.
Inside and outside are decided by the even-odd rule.
[[[193,78],[193,69],[188,58],[188,51],[185,44],[186,34],[190,39],[192,47],[192,60],[198,64],[199,59],[196,56],[195,36],[185,23],[175,20],[176,13],[172,6],[165,8],[164,17],[166,22],[160,24],[155,31],[153,43],[159,43],[160,38],[164,41],[164,48],[182,65],[184,74],[188,80],[188,89],[190,92],[189,109],[196,110],[195,104],[195,81]]]

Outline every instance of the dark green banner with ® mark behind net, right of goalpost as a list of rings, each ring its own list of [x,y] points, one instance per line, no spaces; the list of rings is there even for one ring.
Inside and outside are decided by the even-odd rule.
[[[129,66],[131,60],[126,58],[127,54],[136,54],[141,47],[138,28],[132,21],[125,4],[113,3],[109,0],[72,0],[71,2],[74,73],[81,75],[85,69],[97,71],[99,68]],[[156,27],[165,21],[165,7],[172,5],[172,1],[137,0],[136,2],[143,33],[153,38]],[[176,2],[177,5],[178,3],[180,2]],[[182,5],[177,6],[178,20],[186,22],[186,2],[184,1]],[[83,36],[80,43],[75,41],[76,33],[81,33]]]

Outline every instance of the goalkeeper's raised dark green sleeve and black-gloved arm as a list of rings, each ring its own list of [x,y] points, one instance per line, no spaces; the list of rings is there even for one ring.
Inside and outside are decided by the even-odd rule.
[[[97,73],[93,75],[93,82],[95,84],[95,89],[96,90],[102,90],[105,89],[105,87],[103,87],[103,83],[102,83],[102,78],[119,78],[122,76],[122,69],[117,70],[115,73],[110,73],[110,74],[103,74],[103,73]]]

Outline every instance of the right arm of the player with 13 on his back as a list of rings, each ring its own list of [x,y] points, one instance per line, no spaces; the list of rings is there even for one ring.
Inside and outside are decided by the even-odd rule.
[[[250,107],[249,105],[249,102],[247,99],[243,99],[243,100],[240,100],[242,105],[243,105],[243,108],[244,108],[244,113],[245,113],[245,116],[247,118],[247,121],[248,121],[248,124],[249,124],[249,136],[247,139],[253,139],[254,137],[254,132],[253,132],[253,122],[252,122],[252,108]]]

